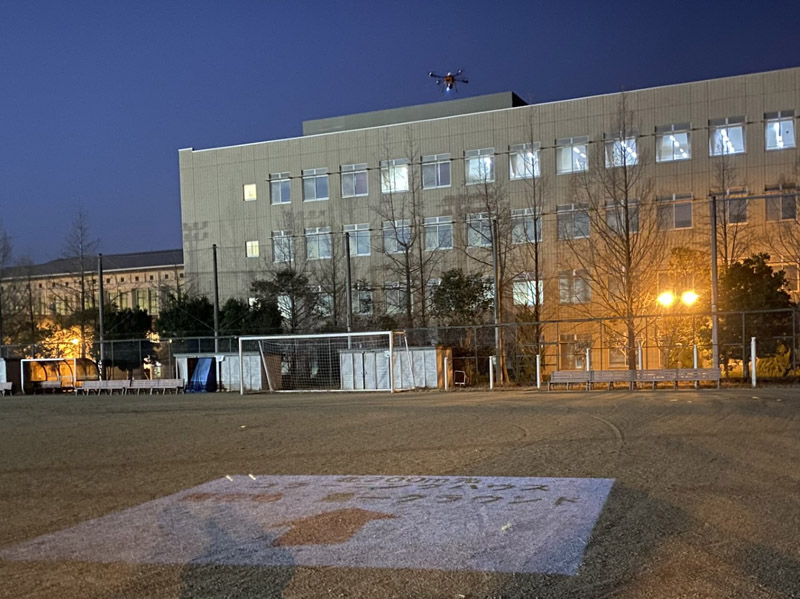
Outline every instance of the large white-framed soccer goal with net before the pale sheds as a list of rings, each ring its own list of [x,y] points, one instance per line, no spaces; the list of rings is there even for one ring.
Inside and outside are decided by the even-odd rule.
[[[240,337],[240,381],[253,356],[269,391],[415,388],[408,340],[400,331]],[[240,385],[240,393],[244,391]]]

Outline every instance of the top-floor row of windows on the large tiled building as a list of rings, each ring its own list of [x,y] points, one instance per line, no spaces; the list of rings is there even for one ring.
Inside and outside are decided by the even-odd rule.
[[[795,147],[794,111],[766,113],[764,115],[764,137],[767,150],[784,150]],[[710,156],[742,154],[745,152],[745,118],[725,117],[708,122],[708,153]],[[655,128],[656,162],[675,162],[692,157],[690,123],[673,123]],[[639,160],[638,135],[604,135],[605,166],[614,168],[632,166]],[[556,173],[563,175],[578,173],[589,168],[589,137],[568,137],[555,142]],[[530,179],[540,176],[539,155],[541,144],[522,143],[509,147],[509,178]],[[438,189],[450,187],[452,157],[450,154],[432,154],[421,159],[422,188]],[[464,176],[467,185],[491,183],[495,180],[494,148],[467,150],[464,153]],[[407,159],[383,160],[380,163],[381,193],[409,191],[409,168]],[[341,166],[341,195],[354,198],[369,195],[368,166],[366,163]],[[302,171],[303,201],[322,201],[330,198],[328,169],[313,168]],[[243,188],[243,199],[258,198],[255,183]],[[291,173],[270,175],[270,199],[272,204],[288,204],[292,201]]]

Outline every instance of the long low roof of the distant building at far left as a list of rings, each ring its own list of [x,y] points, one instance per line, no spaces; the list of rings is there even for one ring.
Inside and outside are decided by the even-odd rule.
[[[84,271],[97,270],[97,256],[85,256],[83,261]],[[155,250],[151,252],[135,252],[132,254],[103,254],[103,270],[138,270],[148,268],[173,268],[183,266],[183,250]],[[59,258],[33,264],[31,266],[15,266],[6,271],[9,278],[32,276],[47,277],[67,275],[79,272],[80,267],[76,258]]]

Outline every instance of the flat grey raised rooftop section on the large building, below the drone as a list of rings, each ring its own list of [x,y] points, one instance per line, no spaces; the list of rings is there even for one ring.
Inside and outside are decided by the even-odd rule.
[[[447,102],[432,102],[430,104],[417,104],[416,106],[404,106],[402,108],[303,121],[303,135],[368,129],[383,125],[427,121],[448,116],[460,116],[526,105],[527,103],[514,92],[501,92],[499,94],[448,100]]]

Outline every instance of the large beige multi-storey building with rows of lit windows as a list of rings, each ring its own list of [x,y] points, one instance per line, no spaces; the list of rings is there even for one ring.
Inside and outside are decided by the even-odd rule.
[[[537,292],[547,318],[580,316],[614,287],[598,285],[582,260],[597,247],[593,211],[620,226],[611,222],[620,198],[593,205],[589,188],[636,168],[641,184],[624,193],[634,234],[650,227],[668,247],[710,262],[714,196],[730,233],[720,256],[767,250],[796,291],[800,252],[781,240],[797,228],[799,111],[792,68],[534,105],[495,94],[307,121],[297,138],[183,149],[187,281],[211,294],[216,244],[222,301],[293,265],[339,304],[347,231],[354,311],[405,314],[411,279],[417,320],[444,270],[491,273],[496,212],[516,253],[503,275],[506,320]],[[404,277],[398,255],[417,234],[415,260],[427,274]],[[538,277],[525,257],[535,243]],[[648,264],[653,286],[680,292],[666,276],[668,253],[659,256]]]

